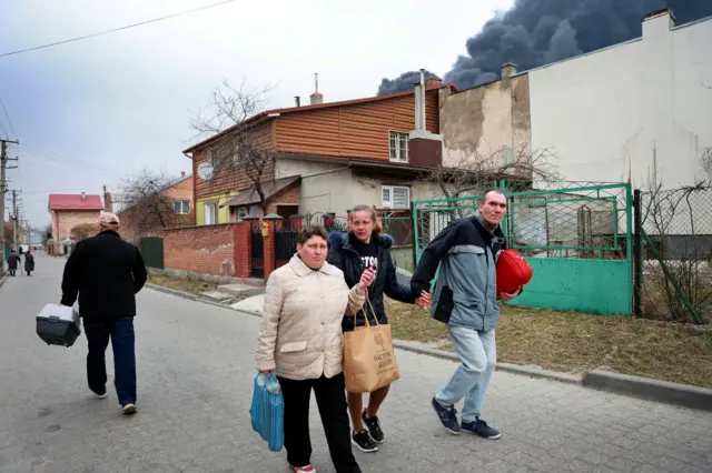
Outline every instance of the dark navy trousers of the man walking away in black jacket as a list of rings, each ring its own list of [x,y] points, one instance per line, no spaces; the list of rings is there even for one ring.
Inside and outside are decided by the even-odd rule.
[[[87,380],[97,394],[107,392],[105,352],[111,340],[113,351],[113,385],[121,405],[136,404],[136,351],[134,318],[85,319],[89,342]]]

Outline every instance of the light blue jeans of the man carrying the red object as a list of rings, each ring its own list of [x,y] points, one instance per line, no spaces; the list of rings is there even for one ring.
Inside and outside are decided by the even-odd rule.
[[[463,362],[447,383],[435,395],[444,407],[465,399],[462,421],[479,417],[492,373],[497,364],[497,345],[494,329],[478,332],[464,326],[447,326],[455,354]]]

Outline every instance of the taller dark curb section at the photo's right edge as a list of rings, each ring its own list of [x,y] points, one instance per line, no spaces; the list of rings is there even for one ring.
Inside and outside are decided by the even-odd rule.
[[[600,370],[587,371],[585,388],[683,407],[712,411],[712,390]]]

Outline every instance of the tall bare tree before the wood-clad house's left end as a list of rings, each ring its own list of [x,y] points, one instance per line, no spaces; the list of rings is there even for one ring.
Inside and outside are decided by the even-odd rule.
[[[259,197],[264,213],[267,213],[268,187],[275,179],[274,161],[259,143],[256,123],[249,119],[264,111],[270,90],[269,85],[247,90],[245,81],[239,88],[234,88],[224,80],[211,93],[208,112],[197,113],[190,123],[200,137],[224,134],[216,145],[214,175],[246,177]]]

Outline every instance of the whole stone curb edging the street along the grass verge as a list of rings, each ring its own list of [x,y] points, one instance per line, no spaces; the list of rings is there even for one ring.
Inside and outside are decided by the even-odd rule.
[[[3,280],[0,280],[0,286],[2,285],[2,282]],[[229,305],[208,301],[189,292],[177,291],[175,289],[164,288],[162,285],[149,283],[147,283],[146,286],[159,292],[165,292],[168,294],[177,295],[179,298],[189,299],[196,302],[202,302],[235,312],[241,312],[247,315],[256,318],[263,316],[261,312],[248,311],[244,309],[233,309]],[[455,353],[445,350],[432,349],[429,346],[423,345],[422,343],[408,342],[404,340],[393,340],[392,343],[394,348],[399,350],[459,362],[459,358],[457,358]],[[672,404],[688,409],[712,411],[712,390],[705,388],[671,383],[666,381],[657,381],[650,378],[632,376],[629,374],[619,374],[600,370],[586,371],[583,373],[583,375],[575,375],[561,373],[557,371],[544,370],[541,368],[524,366],[511,363],[497,363],[496,370],[513,374],[520,374],[523,376],[557,381],[560,383],[576,384],[586,389],[611,392],[629,397],[637,397],[646,401]]]

